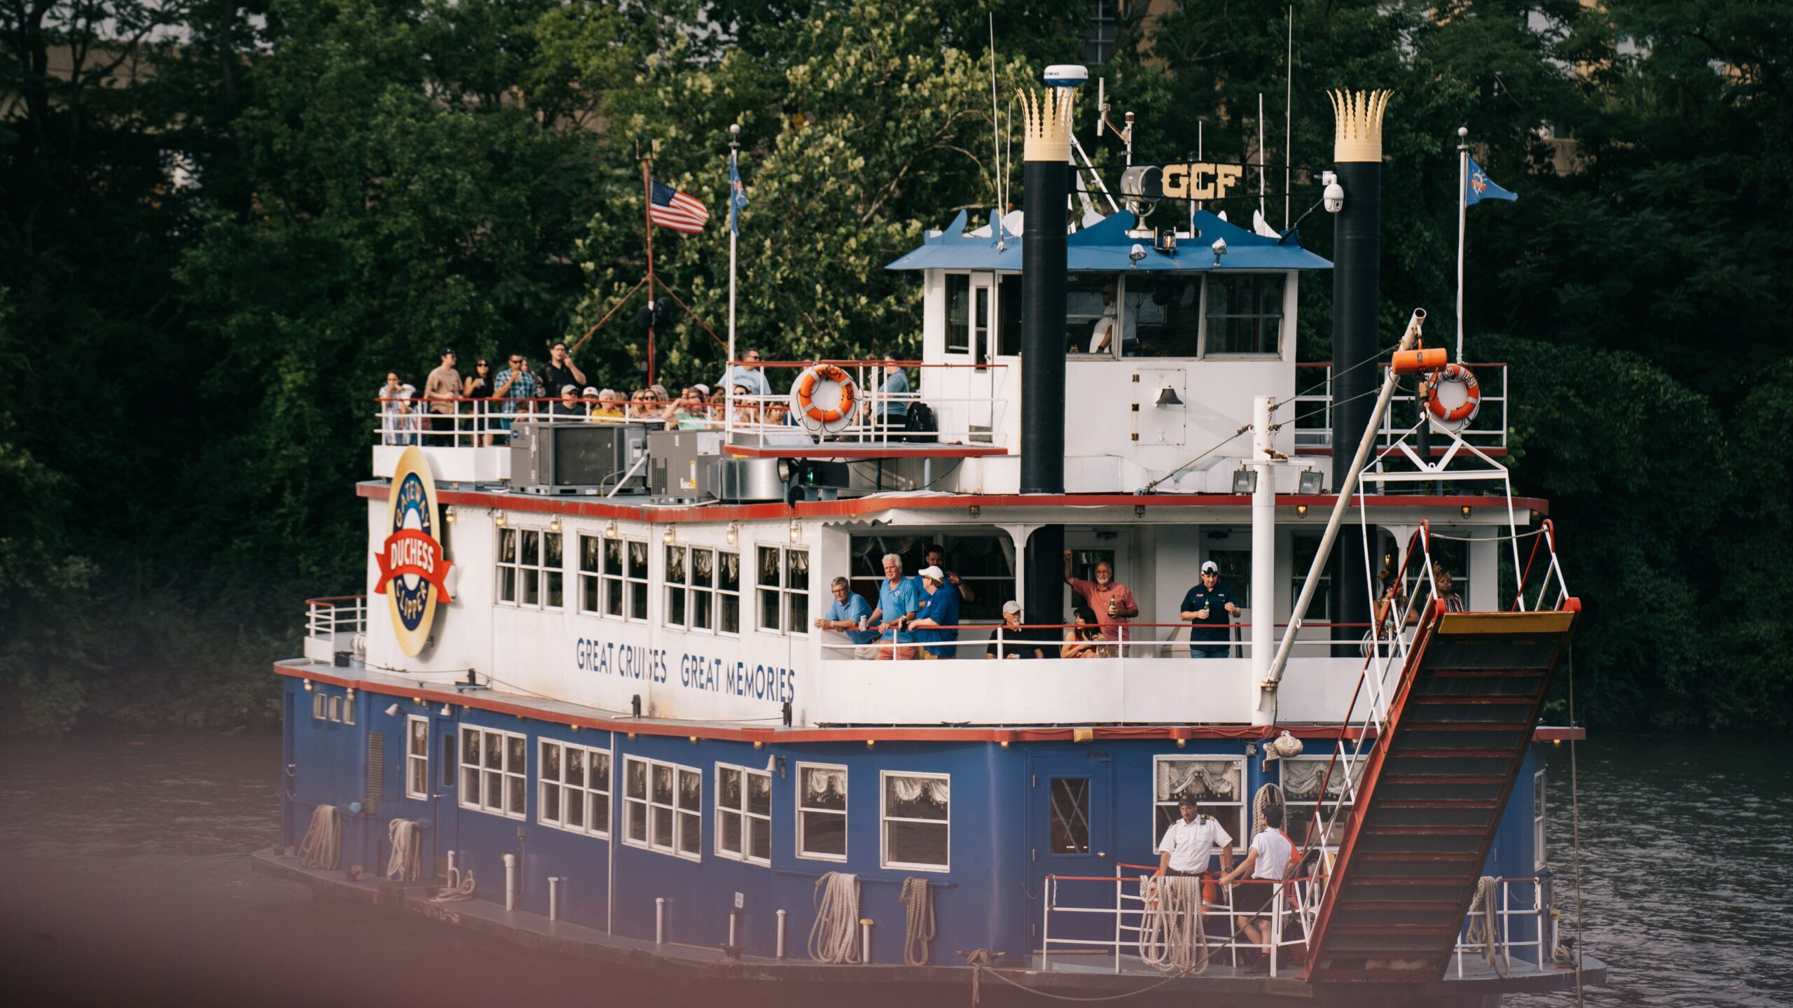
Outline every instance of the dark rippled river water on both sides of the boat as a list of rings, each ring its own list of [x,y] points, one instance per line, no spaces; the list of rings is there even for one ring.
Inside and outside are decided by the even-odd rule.
[[[1565,891],[1569,757],[1556,746],[1549,775]],[[1587,1003],[1793,1004],[1793,746],[1608,735],[1576,757],[1585,947],[1612,967]],[[276,838],[278,764],[280,739],[260,734],[0,741],[9,994],[129,1008],[638,1001],[606,995],[590,965],[251,873],[246,854]]]

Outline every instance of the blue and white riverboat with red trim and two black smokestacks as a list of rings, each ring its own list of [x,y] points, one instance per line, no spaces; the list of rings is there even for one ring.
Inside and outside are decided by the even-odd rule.
[[[1022,213],[889,265],[923,287],[918,361],[766,362],[789,393],[676,430],[382,413],[364,594],[308,601],[274,665],[256,866],[710,999],[1599,981],[1546,847],[1580,606],[1503,465],[1506,368],[1420,346],[1424,312],[1377,330],[1386,95],[1334,102],[1334,262],[1194,204],[1237,167],[1087,185],[1072,95],[1026,95]],[[1304,362],[1325,271],[1334,355]],[[957,626],[882,649],[931,655],[818,626],[836,578],[879,606],[929,554]],[[1097,565],[1130,595],[1085,631]],[[1207,565],[1237,612],[1192,624]],[[1189,796],[1237,857],[1284,809],[1268,940],[1217,854],[1156,877]]]

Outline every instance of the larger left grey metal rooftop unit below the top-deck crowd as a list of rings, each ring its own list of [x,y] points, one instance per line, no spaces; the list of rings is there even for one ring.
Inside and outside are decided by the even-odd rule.
[[[645,493],[647,427],[640,423],[516,423],[511,490],[541,495]]]

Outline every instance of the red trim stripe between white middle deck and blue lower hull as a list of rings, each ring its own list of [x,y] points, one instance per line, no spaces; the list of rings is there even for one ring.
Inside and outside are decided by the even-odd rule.
[[[495,714],[515,714],[534,721],[554,725],[577,725],[599,732],[633,732],[638,735],[672,735],[723,739],[732,743],[1069,743],[1085,728],[762,728],[762,726],[723,726],[715,723],[678,723],[654,721],[644,717],[599,717],[547,710],[527,703],[498,700],[489,692],[457,692],[436,685],[400,685],[378,683],[359,678],[339,676],[330,671],[301,669],[274,662],[274,674],[294,680],[312,680],[325,685],[355,687],[362,692],[380,696],[420,698],[429,705],[448,703],[470,707],[473,710],[491,710]],[[1338,725],[1097,725],[1087,728],[1090,741],[1131,741],[1131,739],[1268,739],[1280,732],[1289,732],[1296,739],[1338,739]],[[1547,734],[1565,734],[1563,737],[1587,737],[1581,728],[1538,728],[1535,741],[1555,741]],[[1356,730],[1347,730],[1347,737],[1356,737]]]

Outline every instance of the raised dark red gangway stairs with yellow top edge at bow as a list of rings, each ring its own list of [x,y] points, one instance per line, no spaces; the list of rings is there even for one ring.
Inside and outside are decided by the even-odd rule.
[[[1443,978],[1576,608],[1420,621],[1314,920],[1307,979]]]

